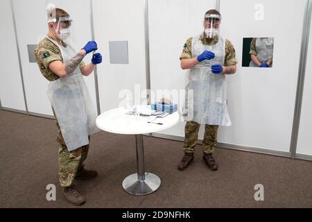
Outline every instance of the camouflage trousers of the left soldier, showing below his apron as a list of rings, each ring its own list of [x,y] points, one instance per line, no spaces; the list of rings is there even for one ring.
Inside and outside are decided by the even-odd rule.
[[[54,110],[53,114],[55,117]],[[73,185],[78,169],[83,167],[83,162],[88,155],[89,144],[76,148],[76,150],[68,151],[56,117],[55,121],[56,126],[58,126],[58,139],[56,139],[58,142],[58,178],[61,187],[69,187]]]

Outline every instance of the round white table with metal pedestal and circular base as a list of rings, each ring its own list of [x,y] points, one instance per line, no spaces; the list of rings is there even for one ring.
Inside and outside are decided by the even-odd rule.
[[[110,133],[135,135],[137,145],[137,173],[123,180],[123,189],[129,194],[145,195],[156,191],[161,182],[160,178],[153,173],[144,170],[144,146],[143,134],[171,128],[179,121],[179,114],[174,112],[164,118],[157,118],[155,123],[148,123],[148,116],[136,116],[125,114],[125,108],[116,108],[103,112],[96,118],[96,126]]]

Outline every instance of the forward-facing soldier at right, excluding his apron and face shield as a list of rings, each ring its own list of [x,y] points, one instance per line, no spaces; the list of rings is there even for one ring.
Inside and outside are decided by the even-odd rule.
[[[220,15],[220,12],[218,12],[217,10],[209,10],[205,13],[205,17],[206,15]],[[207,22],[207,19],[205,19],[205,22]],[[204,22],[204,26],[205,26],[205,22]],[[218,43],[219,36],[220,35],[216,35],[210,38],[210,37],[207,37],[207,33],[203,32],[200,35],[199,40],[204,45],[213,46]],[[193,69],[193,67],[195,67],[196,65],[198,65],[199,62],[201,62],[200,60],[198,60],[200,56],[194,57],[192,55],[192,40],[193,38],[190,37],[187,40],[187,42],[184,44],[184,49],[182,51],[182,55],[180,56],[182,69]],[[211,52],[207,52],[207,53],[208,53],[207,54],[208,57],[205,59],[209,60],[210,59],[209,53]],[[236,72],[236,63],[237,63],[237,60],[235,56],[234,46],[232,45],[231,42],[229,42],[229,40],[225,40],[224,64],[222,64],[222,66],[219,65],[220,71],[214,72],[213,70],[214,65],[211,67],[211,70],[214,72],[214,74],[218,74],[218,75],[234,74]],[[207,75],[214,75],[214,74],[207,73]],[[177,165],[177,169],[179,169],[180,171],[187,169],[187,167],[189,167],[189,164],[193,162],[193,153],[195,151],[195,147],[197,144],[199,129],[200,129],[200,123],[196,121],[187,121],[185,125],[185,129],[184,129],[184,133],[185,133],[184,157],[182,158],[181,162]],[[214,149],[217,144],[217,130],[218,130],[218,125],[205,124],[205,135],[202,141],[202,151],[204,153],[203,159],[205,160],[207,167],[213,171],[216,171],[218,169],[218,164],[216,164],[214,158],[212,157],[212,153],[214,153]]]

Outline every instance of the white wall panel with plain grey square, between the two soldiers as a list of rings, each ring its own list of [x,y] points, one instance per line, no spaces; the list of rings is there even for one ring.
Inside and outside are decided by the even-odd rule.
[[[116,108],[122,89],[146,89],[144,1],[94,0],[94,31],[103,65],[98,66],[101,112]],[[110,64],[110,41],[128,41],[128,64]],[[135,102],[135,100],[134,100]]]

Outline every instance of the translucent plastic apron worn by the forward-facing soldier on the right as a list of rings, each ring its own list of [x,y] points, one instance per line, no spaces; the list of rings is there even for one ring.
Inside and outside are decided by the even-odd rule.
[[[226,82],[224,74],[213,74],[211,65],[223,65],[225,58],[225,40],[218,35],[213,46],[202,44],[199,37],[193,37],[191,53],[193,58],[208,50],[215,53],[212,60],[204,60],[191,68],[186,78],[186,101],[183,116],[185,121],[201,124],[231,126],[227,112]]]

